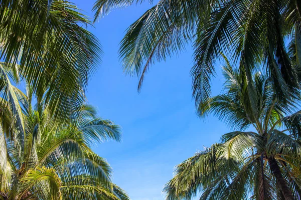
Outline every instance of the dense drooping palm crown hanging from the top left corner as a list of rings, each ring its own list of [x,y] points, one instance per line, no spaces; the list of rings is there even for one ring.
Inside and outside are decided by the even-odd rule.
[[[18,66],[16,73],[58,120],[85,101],[87,81],[100,62],[89,24],[67,0],[0,0],[0,60]]]

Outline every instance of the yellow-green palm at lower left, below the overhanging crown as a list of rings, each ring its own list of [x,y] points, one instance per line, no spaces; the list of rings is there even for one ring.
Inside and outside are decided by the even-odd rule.
[[[5,99],[1,101],[0,198],[129,199],[112,183],[107,161],[90,148],[96,141],[119,141],[119,126],[99,118],[95,108],[86,104],[72,110],[64,120],[68,122],[57,123],[43,101],[31,105],[33,91],[16,90],[24,137],[15,136],[20,128],[14,125],[14,111]]]

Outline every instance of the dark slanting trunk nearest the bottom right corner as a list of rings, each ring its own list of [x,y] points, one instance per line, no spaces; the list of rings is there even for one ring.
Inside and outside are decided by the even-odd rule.
[[[282,192],[285,200],[294,200],[293,195],[281,174],[280,168],[279,168],[275,158],[269,158],[268,163],[272,170],[272,173],[274,174],[274,176],[276,178],[276,182],[277,182],[279,188],[281,189],[281,192]]]

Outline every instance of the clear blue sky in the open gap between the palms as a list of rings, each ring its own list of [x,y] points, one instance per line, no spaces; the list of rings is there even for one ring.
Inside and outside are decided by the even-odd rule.
[[[92,16],[94,0],[71,0]],[[113,181],[133,200],[164,199],[162,188],[173,177],[173,168],[210,146],[229,131],[211,116],[200,119],[191,97],[192,49],[179,57],[152,65],[141,93],[137,77],[126,76],[118,59],[119,42],[125,29],[150,4],[112,11],[89,28],[101,41],[102,64],[89,82],[87,98],[99,115],[122,126],[123,141],[97,144],[93,149],[114,169]],[[220,64],[213,79],[213,94],[220,93]]]

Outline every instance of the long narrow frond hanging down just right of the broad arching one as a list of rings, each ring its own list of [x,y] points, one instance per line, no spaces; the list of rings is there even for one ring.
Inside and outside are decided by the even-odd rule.
[[[233,11],[243,9],[244,4],[241,0],[229,1],[220,7],[213,7],[209,20],[205,24],[200,23],[197,27],[194,42],[195,65],[191,69],[196,105],[205,102],[210,96],[210,79],[215,73],[214,61],[220,53],[219,49],[229,45],[231,39],[228,35],[235,32],[237,27]]]

